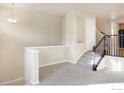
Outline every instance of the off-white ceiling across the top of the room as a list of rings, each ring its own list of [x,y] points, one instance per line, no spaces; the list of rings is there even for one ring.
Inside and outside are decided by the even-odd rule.
[[[0,4],[0,12],[10,8],[10,4]],[[38,11],[53,16],[63,16],[71,10],[78,11],[82,14],[94,15],[108,19],[124,19],[124,3],[107,4],[107,3],[73,3],[73,4],[16,4],[16,10]]]

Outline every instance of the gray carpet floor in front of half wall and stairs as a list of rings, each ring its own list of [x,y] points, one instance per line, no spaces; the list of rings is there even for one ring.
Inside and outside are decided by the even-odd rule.
[[[93,72],[78,64],[61,63],[40,68],[40,85],[89,85],[124,82],[123,72]]]

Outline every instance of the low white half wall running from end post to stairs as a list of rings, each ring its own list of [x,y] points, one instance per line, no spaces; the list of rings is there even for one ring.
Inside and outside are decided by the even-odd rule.
[[[29,47],[30,48],[30,47]],[[49,65],[57,62],[70,61],[77,63],[80,55],[87,51],[85,43],[77,43],[71,46],[41,46],[32,47],[32,49],[39,50],[39,65]]]

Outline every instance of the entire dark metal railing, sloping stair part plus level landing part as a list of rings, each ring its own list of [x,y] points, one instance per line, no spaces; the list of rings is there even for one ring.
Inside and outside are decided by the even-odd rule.
[[[97,70],[99,63],[105,55],[124,57],[124,35],[106,35],[101,32],[104,36],[100,39],[96,46],[93,47],[94,53],[94,64],[92,67],[93,71]],[[98,62],[95,59],[95,53],[99,54],[101,58]]]

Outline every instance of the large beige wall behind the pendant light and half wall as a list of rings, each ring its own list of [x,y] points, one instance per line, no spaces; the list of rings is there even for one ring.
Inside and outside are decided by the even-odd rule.
[[[0,14],[0,83],[24,77],[24,47],[61,44],[58,17],[27,7],[16,11],[19,21],[10,24],[9,13]]]

